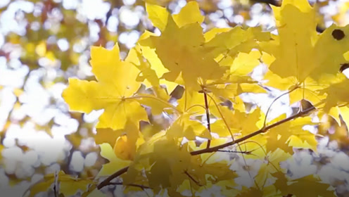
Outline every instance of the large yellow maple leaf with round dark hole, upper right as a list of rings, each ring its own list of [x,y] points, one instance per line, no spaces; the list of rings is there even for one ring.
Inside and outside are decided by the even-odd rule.
[[[279,36],[261,44],[272,54],[265,58],[270,71],[266,85],[290,92],[290,103],[306,99],[315,104],[322,100],[318,89],[329,85],[345,63],[343,53],[349,50],[349,26],[331,25],[322,34],[316,32],[315,11],[305,1],[283,1],[281,8],[273,6]],[[337,36],[341,34],[342,36]],[[331,61],[336,60],[336,61]]]

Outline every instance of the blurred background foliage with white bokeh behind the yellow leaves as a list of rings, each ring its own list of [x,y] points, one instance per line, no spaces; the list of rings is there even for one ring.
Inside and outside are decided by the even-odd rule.
[[[179,12],[185,0],[146,0]],[[189,1],[189,0],[188,0]],[[213,27],[262,25],[274,30],[267,0],[199,0],[205,31]],[[348,1],[311,1],[318,31],[335,22],[347,25]],[[106,160],[94,141],[101,112],[68,112],[61,98],[68,77],[94,80],[90,46],[111,48],[119,42],[121,57],[144,30],[160,33],[146,17],[142,0],[0,1],[0,191],[12,186],[22,195],[30,184],[63,170],[93,178]],[[334,132],[339,130],[341,132]],[[321,134],[348,148],[346,127],[335,121],[320,125]],[[319,161],[323,162],[323,161]],[[20,189],[16,189],[20,188]]]

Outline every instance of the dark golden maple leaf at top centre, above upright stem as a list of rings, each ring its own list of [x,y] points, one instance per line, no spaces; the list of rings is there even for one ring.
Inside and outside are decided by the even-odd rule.
[[[151,8],[155,13],[155,10],[163,13],[163,8],[159,6]],[[149,17],[154,25],[165,23],[158,15]],[[140,42],[142,46],[156,49],[158,58],[169,70],[163,78],[179,84],[182,84],[183,80],[186,87],[197,90],[200,90],[200,85],[205,84],[207,80],[219,79],[227,69],[220,67],[210,53],[205,53],[202,46],[205,39],[200,26],[202,21],[203,17],[196,1],[191,1],[178,15],[168,15],[160,37],[150,37],[150,42],[147,40]]]

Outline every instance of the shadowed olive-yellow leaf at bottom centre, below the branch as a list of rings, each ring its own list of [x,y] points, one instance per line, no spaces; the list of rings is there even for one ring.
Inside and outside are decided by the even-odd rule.
[[[178,139],[167,135],[165,131],[158,132],[139,147],[130,167],[136,172],[145,170],[149,186],[156,192],[161,187],[176,188],[183,182],[183,172],[191,157],[189,151],[179,144]],[[131,173],[127,179],[134,180],[136,175]]]

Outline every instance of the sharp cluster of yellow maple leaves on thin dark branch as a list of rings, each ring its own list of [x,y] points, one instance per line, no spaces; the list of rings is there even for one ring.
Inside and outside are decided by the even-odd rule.
[[[198,196],[212,186],[226,196],[335,196],[315,175],[291,179],[280,163],[295,148],[317,151],[316,134],[303,129],[318,124],[312,117],[348,122],[349,80],[341,71],[349,61],[349,26],[317,33],[315,9],[305,0],[272,8],[278,34],[239,26],[204,33],[196,1],[174,15],[146,4],[160,36],[144,32],[125,60],[118,44],[92,46],[96,80],[70,78],[63,91],[72,111],[103,110],[95,140],[109,160],[98,178],[107,178],[92,187],[122,184],[125,192],[170,196]],[[251,75],[258,66],[267,70],[262,80]],[[241,94],[268,87],[286,91],[281,96],[298,103],[298,113],[269,121],[269,109],[243,102]],[[235,182],[239,172],[230,167],[239,160],[251,187]],[[257,174],[247,160],[262,161]]]

